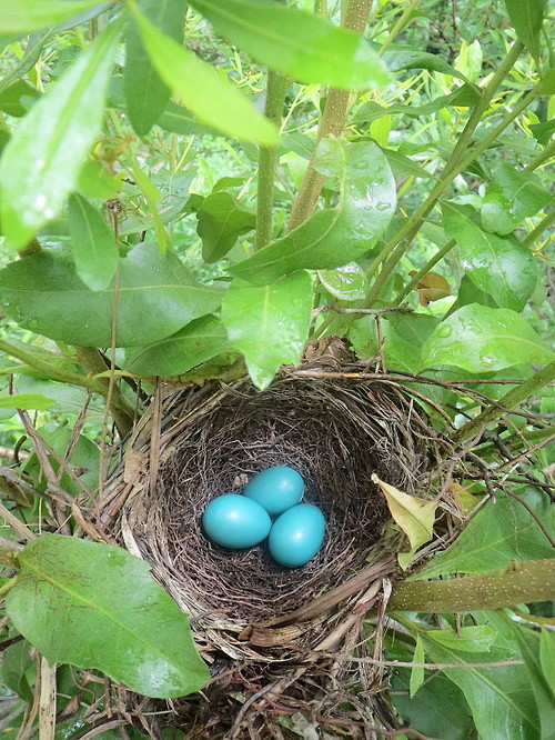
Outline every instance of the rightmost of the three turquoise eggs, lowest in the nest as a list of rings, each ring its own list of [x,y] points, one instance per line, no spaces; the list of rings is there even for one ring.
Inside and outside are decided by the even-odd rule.
[[[320,550],[325,533],[324,514],[312,503],[300,503],[279,517],[268,544],[272,558],[281,566],[299,568]]]

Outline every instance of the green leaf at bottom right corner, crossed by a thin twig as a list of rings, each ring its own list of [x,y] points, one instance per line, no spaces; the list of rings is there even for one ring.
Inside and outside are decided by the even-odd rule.
[[[440,646],[422,632],[428,659],[436,663],[461,663],[444,673],[463,691],[472,710],[477,733],[487,740],[537,740],[539,720],[524,666],[467,667],[468,653]],[[518,660],[517,646],[495,643],[487,652],[472,654],[472,662]]]

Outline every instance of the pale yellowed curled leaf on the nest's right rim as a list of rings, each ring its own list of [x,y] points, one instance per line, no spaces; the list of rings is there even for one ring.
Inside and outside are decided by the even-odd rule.
[[[398,564],[406,570],[416,550],[433,537],[437,501],[426,501],[416,496],[408,496],[394,486],[384,483],[375,473],[372,476],[372,480],[382,489],[391,516],[411,543],[408,552],[397,554]]]

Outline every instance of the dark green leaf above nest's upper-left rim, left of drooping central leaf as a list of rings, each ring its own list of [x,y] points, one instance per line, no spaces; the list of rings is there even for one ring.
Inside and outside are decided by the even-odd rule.
[[[124,369],[138,376],[171,378],[225,352],[229,347],[222,322],[214,316],[203,316],[171,337],[138,348]]]

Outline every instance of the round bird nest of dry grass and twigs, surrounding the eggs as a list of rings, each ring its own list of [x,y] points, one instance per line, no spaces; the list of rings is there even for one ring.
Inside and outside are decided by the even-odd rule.
[[[295,722],[361,738],[372,737],[372,721],[397,727],[380,693],[382,669],[365,660],[381,658],[401,543],[384,537],[390,514],[372,476],[433,496],[438,440],[397,383],[332,374],[283,371],[263,392],[248,379],[158,387],[104,489],[104,527],[190,614],[210,666],[206,689],[161,716],[188,738],[299,737]],[[326,518],[317,556],[291,570],[264,543],[210,542],[208,503],[283,464],[303,476],[304,500]]]

